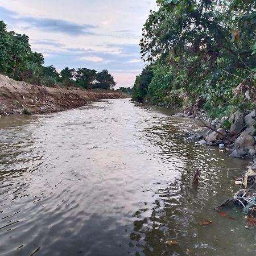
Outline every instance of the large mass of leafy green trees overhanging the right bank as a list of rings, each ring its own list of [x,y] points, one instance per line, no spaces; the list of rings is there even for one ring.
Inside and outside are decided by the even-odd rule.
[[[137,76],[133,100],[164,103],[183,89],[213,117],[255,108],[254,93],[246,96],[256,81],[255,1],[156,2],[140,42],[150,64]],[[238,85],[249,89],[238,95]]]

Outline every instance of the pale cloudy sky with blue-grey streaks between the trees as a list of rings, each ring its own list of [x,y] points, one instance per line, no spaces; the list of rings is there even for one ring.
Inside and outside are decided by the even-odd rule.
[[[155,0],[1,0],[0,20],[30,37],[45,65],[108,69],[118,86],[131,86],[144,63],[142,26]]]

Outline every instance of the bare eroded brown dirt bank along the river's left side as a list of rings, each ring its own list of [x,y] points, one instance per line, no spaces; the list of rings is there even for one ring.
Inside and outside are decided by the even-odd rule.
[[[107,98],[126,98],[126,95],[79,88],[41,87],[0,75],[0,115],[19,114],[24,109],[34,114],[60,112]]]

